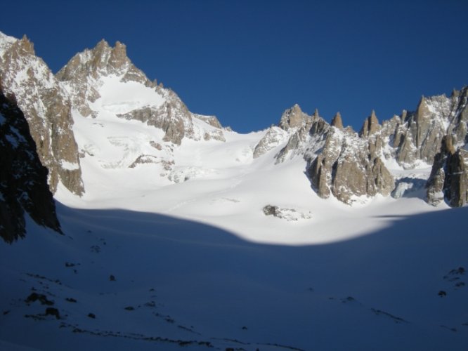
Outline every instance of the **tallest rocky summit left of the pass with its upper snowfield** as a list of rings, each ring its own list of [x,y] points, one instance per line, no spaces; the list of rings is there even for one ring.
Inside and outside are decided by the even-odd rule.
[[[161,128],[164,141],[176,145],[184,137],[223,140],[216,117],[191,113],[174,91],[150,81],[126,56],[126,46],[119,41],[112,48],[101,40],[92,50],[74,55],[56,77],[84,117],[97,117],[101,111],[137,119]],[[208,121],[216,130],[199,128],[193,119]]]

